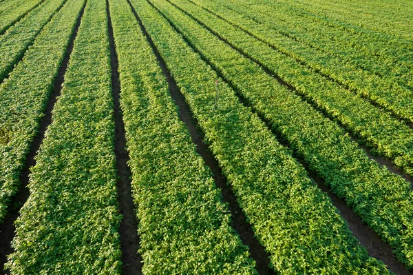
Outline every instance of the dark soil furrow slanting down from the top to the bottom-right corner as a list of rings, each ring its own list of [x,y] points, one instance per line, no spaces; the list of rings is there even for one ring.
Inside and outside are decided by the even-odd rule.
[[[184,41],[193,49],[194,52],[198,53],[200,55],[201,59],[205,63],[209,64],[211,66],[211,68],[213,68],[215,70],[215,72],[217,72],[218,76],[220,78],[224,79],[224,81],[226,81],[226,83],[228,83],[228,85],[230,85],[230,87],[235,91],[235,94],[237,94],[238,98],[240,99],[240,103],[242,103],[246,107],[251,107],[252,111],[255,112],[257,114],[257,116],[259,116],[260,119],[266,124],[267,128],[269,130],[271,130],[271,132],[273,132],[273,134],[277,138],[277,141],[279,141],[279,143],[281,143],[282,145],[284,145],[284,147],[287,147],[289,149],[290,146],[288,145],[288,143],[285,142],[285,139],[282,138],[282,134],[277,132],[277,130],[275,130],[271,126],[270,122],[267,119],[264,118],[264,116],[260,115],[259,112],[256,112],[255,108],[252,105],[250,105],[248,103],[248,101],[244,98],[244,96],[242,96],[242,94],[239,92],[239,90],[237,90],[237,88],[235,88],[235,85],[233,85],[233,83],[231,83],[231,81],[226,79],[223,76],[223,74],[220,72],[220,70],[217,70],[217,68],[215,68],[215,66],[211,62],[209,62],[206,57],[204,57],[202,52],[199,52],[198,50],[196,50],[196,48],[192,45],[192,43],[189,42],[184,37],[184,34],[182,34],[182,32],[180,32],[178,30],[178,28],[176,28],[176,26],[174,26],[173,22],[171,22],[167,17],[165,17],[165,15],[158,8],[153,6],[153,4],[151,2],[149,2],[149,4],[153,8],[155,8],[162,15],[162,17],[164,17],[169,22],[169,24],[172,26],[172,28],[176,32],[178,32],[179,34],[182,35],[182,39],[184,39]],[[273,74],[271,74],[271,75],[273,75]],[[288,85],[288,84],[286,84],[286,85]],[[291,152],[291,150],[290,150],[290,152]],[[383,263],[385,263],[385,265],[388,265],[388,268],[390,270],[392,270],[392,272],[395,272],[396,274],[400,274],[400,275],[412,274],[392,254],[392,249],[391,249],[390,245],[388,245],[388,243],[385,243],[383,240],[381,240],[381,238],[377,235],[377,233],[370,230],[370,227],[368,227],[368,225],[366,225],[365,223],[363,223],[363,221],[361,221],[361,218],[357,214],[355,214],[354,211],[350,207],[348,207],[348,205],[346,204],[346,202],[342,198],[339,198],[335,194],[333,194],[332,191],[330,190],[330,188],[326,186],[326,183],[322,179],[320,179],[315,172],[310,170],[308,168],[308,165],[306,165],[306,163],[304,161],[302,161],[301,158],[299,156],[297,156],[297,154],[295,154],[295,152],[292,152],[292,154],[295,157],[295,159],[297,159],[297,161],[299,161],[299,163],[304,166],[304,168],[306,169],[306,171],[309,174],[310,179],[312,179],[315,183],[317,183],[318,187],[323,192],[326,192],[328,194],[328,196],[330,197],[333,205],[335,205],[335,207],[337,207],[337,209],[340,210],[341,216],[348,223],[348,227],[353,232],[354,236],[359,240],[361,245],[366,247],[366,249],[368,250],[368,254],[370,256],[374,257],[374,258],[378,258],[379,260],[383,261]]]

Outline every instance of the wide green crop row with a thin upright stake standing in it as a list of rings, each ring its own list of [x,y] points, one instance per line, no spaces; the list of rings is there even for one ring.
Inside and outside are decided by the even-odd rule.
[[[132,3],[204,131],[255,235],[271,255],[273,268],[280,274],[385,273],[383,264],[368,257],[304,167],[279,145],[257,115],[239,103],[229,85],[149,3]],[[213,112],[215,79],[221,84],[219,107]]]

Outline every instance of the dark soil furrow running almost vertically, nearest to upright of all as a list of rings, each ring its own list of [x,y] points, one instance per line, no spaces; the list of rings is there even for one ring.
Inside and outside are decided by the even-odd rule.
[[[120,248],[122,249],[122,274],[142,274],[142,257],[138,254],[140,239],[138,222],[136,221],[134,200],[131,191],[131,170],[127,165],[129,154],[126,150],[125,125],[120,108],[120,80],[118,72],[118,55],[116,54],[114,31],[109,12],[109,1],[106,0],[107,23],[112,68],[112,94],[114,97],[115,121],[115,155],[118,174],[118,204],[123,218],[120,222]]]

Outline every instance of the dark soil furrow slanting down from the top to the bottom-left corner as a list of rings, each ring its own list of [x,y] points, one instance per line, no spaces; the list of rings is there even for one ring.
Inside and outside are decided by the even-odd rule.
[[[3,271],[3,267],[7,262],[7,255],[13,252],[10,243],[12,242],[12,239],[16,234],[16,227],[14,226],[14,221],[16,221],[19,217],[20,208],[23,206],[25,201],[27,201],[30,195],[30,191],[28,189],[28,183],[30,181],[30,167],[36,165],[35,156],[39,151],[41,143],[43,142],[47,127],[50,125],[50,123],[52,123],[52,110],[54,108],[54,104],[57,101],[57,97],[61,94],[62,84],[65,81],[65,72],[67,70],[67,65],[70,60],[70,54],[72,54],[73,50],[74,39],[76,39],[78,28],[81,25],[81,19],[83,17],[85,7],[86,2],[77,19],[76,26],[72,33],[72,37],[70,38],[70,43],[69,45],[67,45],[67,50],[65,57],[62,61],[62,65],[59,68],[59,72],[57,74],[56,79],[54,80],[53,91],[52,94],[50,94],[50,99],[49,101],[47,101],[47,105],[44,111],[45,115],[41,119],[39,130],[36,136],[34,136],[32,144],[30,145],[30,150],[25,161],[25,167],[23,168],[20,175],[19,192],[17,192],[17,194],[12,198],[8,215],[4,219],[3,223],[0,225],[0,272],[3,272],[3,274],[8,274],[8,271]]]

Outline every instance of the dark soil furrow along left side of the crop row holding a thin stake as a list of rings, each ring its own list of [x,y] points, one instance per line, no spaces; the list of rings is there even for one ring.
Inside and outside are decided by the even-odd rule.
[[[197,146],[198,154],[202,156],[204,162],[213,172],[213,179],[222,192],[223,201],[228,204],[229,210],[231,211],[231,223],[233,228],[238,234],[240,234],[242,243],[244,243],[244,245],[248,245],[248,251],[257,264],[256,268],[258,273],[261,275],[275,274],[275,272],[273,272],[273,270],[269,267],[270,260],[268,258],[267,252],[265,251],[264,247],[258,242],[257,238],[255,238],[251,225],[246,222],[244,212],[242,212],[240,205],[238,205],[235,194],[233,193],[233,190],[231,190],[231,187],[229,187],[229,183],[226,177],[222,174],[222,169],[218,164],[218,161],[214,158],[211,150],[209,150],[209,147],[204,143],[204,134],[202,133],[202,130],[200,130],[198,122],[194,119],[189,105],[180,92],[176,81],[173,79],[173,77],[171,77],[171,73],[167,69],[165,61],[160,56],[160,53],[154,45],[151,37],[149,37],[149,34],[145,30],[145,26],[143,26],[142,21],[140,21],[138,14],[134,10],[134,7],[131,5],[129,0],[128,3],[131,6],[132,12],[134,12],[136,20],[138,21],[143,34],[147,38],[147,41],[149,41],[149,44],[151,45],[151,48],[156,55],[156,59],[159,62],[160,68],[162,68],[162,72],[165,74],[169,85],[169,92],[179,108],[179,117],[181,121],[184,122],[185,125],[187,125],[187,128],[189,128],[191,139]]]

